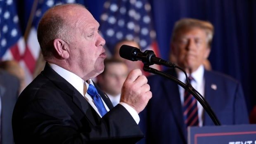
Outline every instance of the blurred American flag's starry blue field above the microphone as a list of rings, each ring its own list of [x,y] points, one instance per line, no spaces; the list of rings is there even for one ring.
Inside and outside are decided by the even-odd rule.
[[[147,0],[108,0],[100,19],[100,31],[111,52],[120,40],[135,40],[142,51],[153,50],[159,56]]]

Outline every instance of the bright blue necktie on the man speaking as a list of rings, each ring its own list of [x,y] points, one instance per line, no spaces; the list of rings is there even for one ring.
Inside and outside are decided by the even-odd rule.
[[[96,88],[89,84],[87,93],[92,97],[95,106],[97,107],[98,111],[100,112],[101,116],[104,116],[107,113],[107,110],[102,102],[100,94],[97,92]]]

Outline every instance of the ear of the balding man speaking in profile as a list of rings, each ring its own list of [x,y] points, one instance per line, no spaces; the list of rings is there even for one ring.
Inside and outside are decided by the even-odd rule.
[[[62,59],[69,58],[69,46],[64,40],[57,38],[53,40],[53,45],[59,57],[61,57]]]

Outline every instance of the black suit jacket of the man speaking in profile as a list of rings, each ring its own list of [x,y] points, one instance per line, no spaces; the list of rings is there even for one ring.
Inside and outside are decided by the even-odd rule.
[[[109,98],[98,92],[110,109],[102,118],[83,95],[46,64],[15,105],[15,143],[135,143],[142,138],[130,113],[120,104],[113,108]]]

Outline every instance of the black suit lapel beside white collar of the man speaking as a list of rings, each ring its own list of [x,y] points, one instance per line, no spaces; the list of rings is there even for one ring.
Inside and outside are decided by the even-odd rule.
[[[83,97],[83,95],[76,90],[70,83],[68,83],[64,78],[59,76],[48,63],[45,64],[45,68],[42,71],[44,76],[46,76],[49,80],[51,80],[55,85],[65,92],[67,95],[72,97],[73,103],[78,106],[78,108],[85,114],[88,121],[92,123],[92,125],[96,125],[96,123],[100,120],[100,116],[95,112],[92,106],[87,102],[87,100]],[[95,121],[92,121],[92,120]]]

